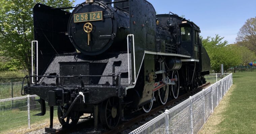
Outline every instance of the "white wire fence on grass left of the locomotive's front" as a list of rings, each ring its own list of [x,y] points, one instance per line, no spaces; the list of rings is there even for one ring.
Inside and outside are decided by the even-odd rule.
[[[41,112],[37,95],[0,99],[0,133],[11,133],[37,128],[49,123],[50,107],[46,103],[45,116],[34,116]],[[55,108],[56,110],[56,108]]]

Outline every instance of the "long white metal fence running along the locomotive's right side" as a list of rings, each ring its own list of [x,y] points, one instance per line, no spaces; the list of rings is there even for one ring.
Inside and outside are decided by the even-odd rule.
[[[226,74],[226,77],[220,80],[220,76],[218,76],[219,74],[207,75],[206,78],[212,80],[210,82],[215,81],[214,84],[191,96],[172,109],[166,110],[165,113],[129,134],[198,133],[233,84],[232,74]]]

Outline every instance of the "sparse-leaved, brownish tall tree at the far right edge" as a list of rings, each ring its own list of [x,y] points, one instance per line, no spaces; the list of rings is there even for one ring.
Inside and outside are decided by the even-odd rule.
[[[256,52],[256,17],[246,20],[237,34],[236,41]]]

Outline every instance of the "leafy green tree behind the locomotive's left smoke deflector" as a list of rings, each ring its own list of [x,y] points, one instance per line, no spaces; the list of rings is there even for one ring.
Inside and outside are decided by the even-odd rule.
[[[69,0],[0,0],[0,56],[10,57],[31,75],[31,41],[33,40],[33,6],[73,6]]]

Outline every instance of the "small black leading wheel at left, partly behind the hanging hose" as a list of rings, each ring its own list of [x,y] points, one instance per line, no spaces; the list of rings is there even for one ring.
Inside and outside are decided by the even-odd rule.
[[[65,107],[58,106],[57,114],[58,114],[58,119],[60,121],[60,124],[63,127],[70,127],[70,126],[76,125],[78,120],[79,120],[79,113],[78,112],[69,113],[69,115],[65,119],[61,118],[62,116],[65,115],[67,110],[68,110],[67,106],[65,106]],[[70,116],[70,115],[72,115],[72,116]]]

